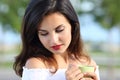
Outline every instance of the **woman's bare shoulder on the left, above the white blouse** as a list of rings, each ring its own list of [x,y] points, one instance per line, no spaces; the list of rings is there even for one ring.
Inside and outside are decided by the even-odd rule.
[[[32,68],[46,68],[44,62],[39,58],[30,58],[27,60],[25,67],[28,69]]]

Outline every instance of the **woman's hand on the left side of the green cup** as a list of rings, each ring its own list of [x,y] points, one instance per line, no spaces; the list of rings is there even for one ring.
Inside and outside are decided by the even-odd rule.
[[[65,74],[66,80],[81,80],[84,77],[83,73],[81,73],[81,70],[73,64],[69,65]]]

